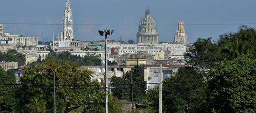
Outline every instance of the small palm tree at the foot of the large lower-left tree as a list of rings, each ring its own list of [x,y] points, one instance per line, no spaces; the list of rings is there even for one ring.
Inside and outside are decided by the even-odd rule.
[[[30,103],[26,105],[29,113],[46,113],[46,100],[32,97]]]

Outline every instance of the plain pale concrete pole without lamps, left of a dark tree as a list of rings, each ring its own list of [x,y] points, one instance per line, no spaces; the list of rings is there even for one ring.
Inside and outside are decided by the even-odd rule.
[[[160,64],[160,84],[159,84],[159,113],[163,112],[163,68],[162,64]]]

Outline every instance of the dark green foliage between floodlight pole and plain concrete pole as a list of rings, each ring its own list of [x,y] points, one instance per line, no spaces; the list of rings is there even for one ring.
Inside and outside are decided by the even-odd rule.
[[[131,84],[131,73],[133,79],[134,102],[140,103],[146,95],[146,81],[143,81],[140,73],[140,67],[138,65],[134,67],[134,71],[124,73],[123,78],[116,76],[112,77],[111,85],[114,87],[114,96],[118,97],[119,99],[131,100],[131,87],[128,85]]]

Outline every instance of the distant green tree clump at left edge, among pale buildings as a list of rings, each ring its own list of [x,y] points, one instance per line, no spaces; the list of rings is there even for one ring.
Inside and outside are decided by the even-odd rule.
[[[25,55],[18,53],[15,49],[9,49],[7,53],[0,52],[0,61],[18,62],[18,65],[25,65]]]

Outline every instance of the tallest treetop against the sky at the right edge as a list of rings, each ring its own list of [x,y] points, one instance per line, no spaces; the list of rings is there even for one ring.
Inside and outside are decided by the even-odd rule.
[[[224,33],[219,36],[218,45],[225,59],[236,58],[240,54],[250,53],[256,57],[256,30],[242,25],[238,32]]]

